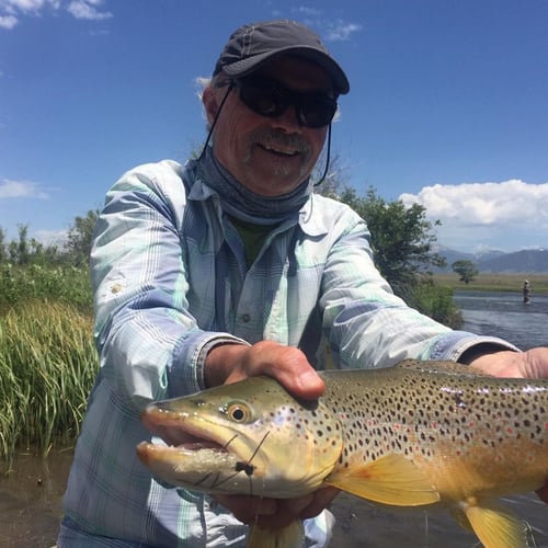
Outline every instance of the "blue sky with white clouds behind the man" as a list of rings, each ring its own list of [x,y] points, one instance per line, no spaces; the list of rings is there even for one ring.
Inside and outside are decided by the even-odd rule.
[[[333,149],[454,249],[548,247],[546,0],[0,0],[0,227],[60,238],[126,170],[205,137],[195,79],[240,24],[309,24],[344,67]]]

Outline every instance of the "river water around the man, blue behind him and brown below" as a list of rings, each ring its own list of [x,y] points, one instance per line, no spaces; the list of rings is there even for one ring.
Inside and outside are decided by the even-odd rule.
[[[548,295],[533,295],[524,305],[518,293],[457,292],[464,329],[501,336],[522,350],[548,345]],[[47,459],[20,454],[14,473],[0,476],[0,545],[49,548],[55,544],[71,455],[52,453]],[[530,528],[530,546],[548,548],[548,506],[536,495],[505,501]],[[341,493],[333,548],[472,548],[476,537],[460,528],[443,509],[393,510]]]

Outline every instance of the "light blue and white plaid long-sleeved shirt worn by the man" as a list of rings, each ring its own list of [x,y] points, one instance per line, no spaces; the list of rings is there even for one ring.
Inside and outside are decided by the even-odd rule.
[[[219,341],[297,346],[317,368],[327,343],[335,366],[351,368],[457,359],[501,343],[408,308],[375,269],[363,220],[320,195],[267,236],[248,269],[238,231],[193,167],[141,165],[106,195],[92,251],[101,369],[59,546],[243,546],[246,528],[208,495],[160,484],[135,454],[150,439],[142,407],[205,388],[205,355]],[[318,539],[308,546],[322,546],[326,515],[307,527]]]

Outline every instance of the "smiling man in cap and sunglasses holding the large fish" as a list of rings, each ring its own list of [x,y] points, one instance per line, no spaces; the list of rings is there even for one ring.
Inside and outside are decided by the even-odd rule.
[[[135,455],[150,438],[139,413],[151,400],[260,374],[317,398],[326,342],[341,367],[420,357],[548,376],[548,349],[520,353],[408,308],[375,270],[362,219],[312,194],[310,173],[349,89],[309,28],[246,25],[204,90],[201,158],[141,165],[107,193],[92,251],[101,372],[60,547],[242,546],[242,522],[294,516],[306,518],[307,546],[328,543],[333,489],[276,501],[158,483]],[[178,442],[174,431],[162,437]]]

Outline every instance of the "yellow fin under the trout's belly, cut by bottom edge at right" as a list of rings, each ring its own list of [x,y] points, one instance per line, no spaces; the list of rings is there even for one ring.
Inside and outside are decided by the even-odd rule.
[[[471,528],[486,548],[527,548],[524,523],[510,510],[494,503],[468,504],[464,509]]]

